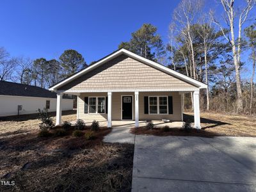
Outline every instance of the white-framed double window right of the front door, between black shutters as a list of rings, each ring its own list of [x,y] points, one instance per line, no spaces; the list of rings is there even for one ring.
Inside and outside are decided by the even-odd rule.
[[[168,101],[166,96],[148,97],[149,114],[168,114]]]

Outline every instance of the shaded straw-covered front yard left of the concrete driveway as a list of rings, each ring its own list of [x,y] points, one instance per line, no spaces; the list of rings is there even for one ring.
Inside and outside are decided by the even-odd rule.
[[[86,132],[85,130],[83,132]],[[71,134],[38,138],[38,131],[0,140],[0,191],[131,191],[134,145],[104,143]]]

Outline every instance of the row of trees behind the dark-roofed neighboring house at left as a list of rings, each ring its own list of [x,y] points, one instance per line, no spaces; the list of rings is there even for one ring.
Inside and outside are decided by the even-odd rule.
[[[11,58],[10,54],[0,47],[0,80],[15,81],[21,84],[49,88],[62,79],[87,67],[83,56],[72,49],[64,51],[58,60],[19,57]]]

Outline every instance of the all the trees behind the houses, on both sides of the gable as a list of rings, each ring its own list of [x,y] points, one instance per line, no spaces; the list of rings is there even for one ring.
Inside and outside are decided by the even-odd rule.
[[[143,24],[129,41],[120,42],[118,48],[208,84],[209,88],[200,92],[202,110],[256,113],[256,22],[253,22],[255,14],[251,14],[256,0],[217,3],[221,13],[207,8],[204,0],[181,0],[172,14],[168,44],[163,43],[156,26]],[[87,65],[74,50],[63,52],[59,60],[31,61],[10,58],[0,48],[0,80],[10,79],[17,66],[15,81],[49,87]],[[186,95],[186,108],[193,108],[192,97]]]

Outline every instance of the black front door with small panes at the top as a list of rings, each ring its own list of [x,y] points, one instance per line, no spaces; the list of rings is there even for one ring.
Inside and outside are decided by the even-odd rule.
[[[122,96],[122,119],[132,120],[132,96]]]

